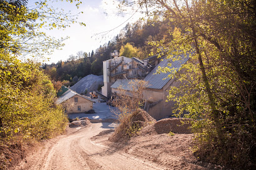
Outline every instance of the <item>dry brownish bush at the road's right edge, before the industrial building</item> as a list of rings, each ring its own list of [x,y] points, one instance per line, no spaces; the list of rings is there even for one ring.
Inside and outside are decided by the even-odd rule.
[[[112,112],[119,121],[119,126],[115,128],[111,141],[122,141],[136,135],[142,128],[142,124],[134,122],[134,117],[141,113],[141,107],[144,106],[143,90],[147,82],[143,80],[132,80],[127,87],[119,86],[117,96],[112,104],[117,108]]]

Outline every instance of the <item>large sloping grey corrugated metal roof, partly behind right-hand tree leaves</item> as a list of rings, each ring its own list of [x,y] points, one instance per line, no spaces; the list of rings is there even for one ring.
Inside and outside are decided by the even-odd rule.
[[[170,80],[170,78],[168,78],[168,75],[170,73],[156,74],[158,66],[168,67],[170,69],[175,69],[176,71],[178,71],[181,68],[182,64],[184,64],[184,63],[186,63],[186,61],[188,61],[189,54],[186,56],[182,55],[180,57],[181,57],[181,59],[179,61],[172,61],[171,59],[163,59],[163,61],[161,61],[156,66],[156,68],[154,68],[151,71],[151,73],[147,74],[146,78],[144,78],[144,81],[147,81],[149,83],[147,88],[162,89],[164,87],[164,85],[166,85],[166,83],[168,83],[168,81]],[[171,67],[168,66],[168,63],[171,63]]]

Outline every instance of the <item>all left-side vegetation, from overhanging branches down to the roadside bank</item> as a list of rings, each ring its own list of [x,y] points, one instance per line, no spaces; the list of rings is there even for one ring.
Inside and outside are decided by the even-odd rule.
[[[55,104],[60,83],[52,83],[36,61],[63,46],[63,39],[49,37],[40,28],[66,27],[75,20],[58,14],[46,1],[33,9],[27,3],[0,2],[0,169],[17,164],[29,143],[63,133],[68,122]]]

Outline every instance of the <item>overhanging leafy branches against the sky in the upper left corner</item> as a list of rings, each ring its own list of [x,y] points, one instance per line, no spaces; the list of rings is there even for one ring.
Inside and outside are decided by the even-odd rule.
[[[53,49],[63,46],[66,38],[55,39],[41,32],[41,28],[65,28],[75,21],[70,13],[58,11],[48,5],[47,1],[36,2],[29,9],[27,1],[1,1],[0,47],[16,55],[45,56]],[[77,3],[77,7],[80,2]],[[83,24],[80,22],[80,24]]]

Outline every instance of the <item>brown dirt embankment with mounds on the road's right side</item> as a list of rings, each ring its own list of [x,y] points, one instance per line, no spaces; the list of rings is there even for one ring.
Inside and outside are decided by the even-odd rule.
[[[139,123],[141,131],[132,138],[119,138],[119,133],[109,134],[113,148],[140,159],[159,164],[166,169],[222,169],[221,166],[201,163],[193,154],[191,119],[167,118],[156,121],[145,111],[131,118]]]

